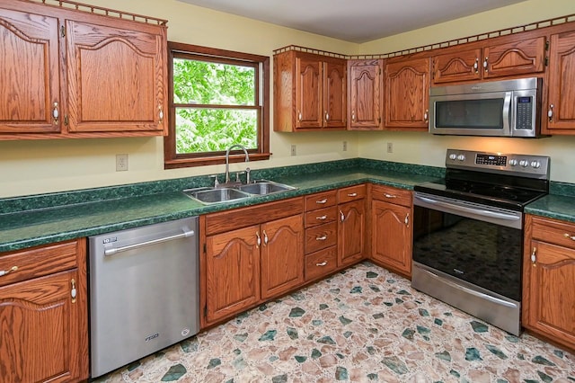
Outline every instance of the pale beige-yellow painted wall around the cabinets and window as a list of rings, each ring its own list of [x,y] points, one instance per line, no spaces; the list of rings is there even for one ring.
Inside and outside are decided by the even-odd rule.
[[[575,13],[572,0],[529,0],[481,13],[455,22],[411,31],[392,38],[358,45],[217,13],[176,0],[84,0],[125,12],[169,20],[168,39],[221,49],[271,56],[273,49],[295,44],[343,54],[385,53],[433,42],[493,31]],[[341,150],[342,141],[348,151]],[[394,143],[388,155],[386,142]],[[297,156],[290,156],[296,145]],[[326,132],[271,133],[270,161],[253,162],[252,168],[297,165],[365,156],[411,164],[443,165],[447,147],[479,148],[552,156],[552,179],[575,183],[568,163],[575,138],[522,140],[509,138],[442,138],[426,133]],[[128,172],[115,172],[115,155],[128,153]],[[0,198],[51,191],[66,191],[122,183],[221,173],[223,165],[164,170],[162,138],[63,139],[48,141],[0,141]],[[231,165],[239,169],[243,165]]]

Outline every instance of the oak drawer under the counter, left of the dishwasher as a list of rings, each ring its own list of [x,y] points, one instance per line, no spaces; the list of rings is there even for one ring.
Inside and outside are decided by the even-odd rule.
[[[43,245],[0,255],[0,286],[74,269],[78,241]]]

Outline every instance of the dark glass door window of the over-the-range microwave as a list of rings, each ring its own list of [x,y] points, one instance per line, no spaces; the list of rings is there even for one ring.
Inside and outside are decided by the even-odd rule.
[[[503,99],[435,102],[435,126],[447,129],[503,129]]]

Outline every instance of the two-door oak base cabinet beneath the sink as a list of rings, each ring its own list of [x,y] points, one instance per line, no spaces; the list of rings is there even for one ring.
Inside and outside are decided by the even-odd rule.
[[[202,327],[303,284],[303,206],[302,198],[279,200],[200,219]]]

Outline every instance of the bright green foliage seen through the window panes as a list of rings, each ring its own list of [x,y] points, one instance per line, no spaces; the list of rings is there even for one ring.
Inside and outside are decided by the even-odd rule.
[[[173,59],[176,153],[258,147],[255,67]]]

